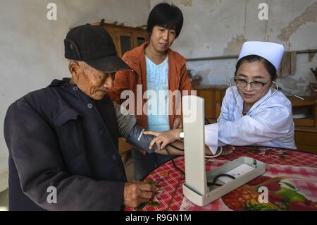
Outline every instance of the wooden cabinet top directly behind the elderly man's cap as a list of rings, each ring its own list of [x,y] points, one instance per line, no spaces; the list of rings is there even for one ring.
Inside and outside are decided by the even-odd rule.
[[[147,30],[142,28],[132,28],[110,23],[92,23],[92,25],[101,25],[108,31],[116,45],[116,50],[120,57],[122,57],[125,52],[138,47],[149,39]]]

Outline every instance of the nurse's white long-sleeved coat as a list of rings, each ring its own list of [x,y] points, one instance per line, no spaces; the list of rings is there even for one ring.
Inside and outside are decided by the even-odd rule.
[[[205,143],[213,154],[218,146],[224,145],[260,145],[296,150],[292,104],[282,92],[276,92],[263,102],[274,91],[268,90],[248,114],[242,116],[243,99],[237,87],[232,89],[240,109],[237,109],[229,87],[223,98],[218,123],[205,126]]]

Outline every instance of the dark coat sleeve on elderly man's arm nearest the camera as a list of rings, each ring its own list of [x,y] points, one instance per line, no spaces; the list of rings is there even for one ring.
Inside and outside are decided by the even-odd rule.
[[[48,210],[119,210],[124,182],[95,181],[68,173],[54,129],[27,101],[9,107],[4,136],[23,193]],[[47,202],[54,186],[57,203]]]

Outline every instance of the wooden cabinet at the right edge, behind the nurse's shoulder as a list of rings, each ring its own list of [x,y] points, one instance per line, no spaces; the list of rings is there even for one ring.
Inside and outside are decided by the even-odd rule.
[[[293,114],[305,114],[305,118],[294,118],[297,149],[317,154],[317,87],[312,85],[311,90],[313,95],[304,97],[305,101],[288,98],[292,102]]]

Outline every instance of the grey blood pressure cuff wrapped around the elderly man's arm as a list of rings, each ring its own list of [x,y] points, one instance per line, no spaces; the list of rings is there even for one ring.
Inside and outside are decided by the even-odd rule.
[[[130,130],[130,133],[127,137],[127,142],[131,145],[134,145],[135,147],[142,148],[142,150],[146,151],[149,154],[154,153],[155,150],[157,150],[157,146],[154,145],[152,149],[149,149],[149,144],[153,138],[155,138],[154,135],[144,135],[144,128],[141,126],[134,126],[132,130]]]

